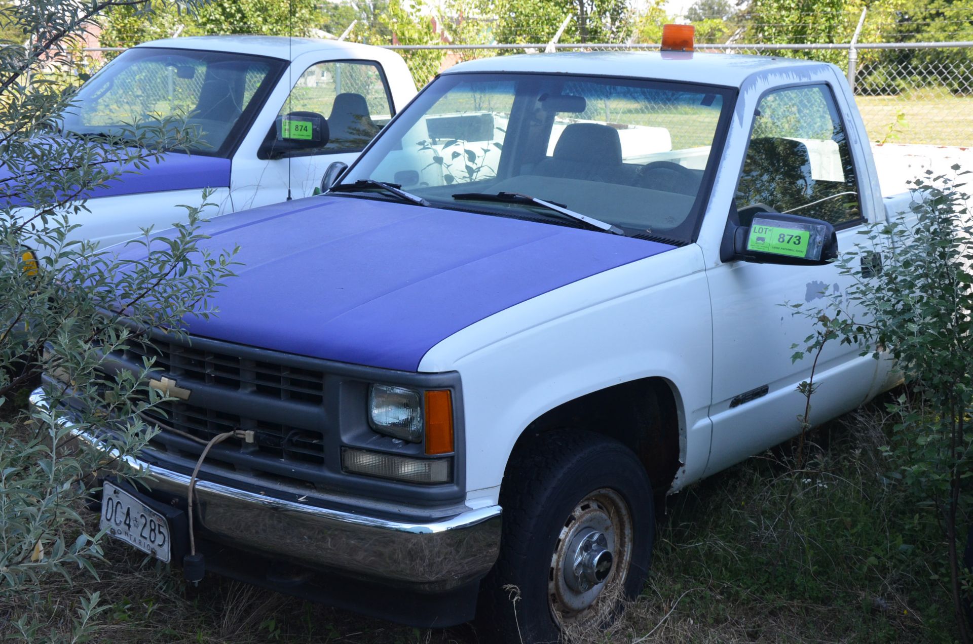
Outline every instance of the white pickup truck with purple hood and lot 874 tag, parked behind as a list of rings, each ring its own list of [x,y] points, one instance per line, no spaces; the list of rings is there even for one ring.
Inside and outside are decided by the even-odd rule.
[[[414,95],[402,57],[368,45],[202,36],[129,49],[79,90],[63,133],[117,135],[188,115],[198,141],[92,191],[73,235],[107,246],[167,229],[204,188],[216,204],[208,217],[308,197],[329,163],[353,161]]]

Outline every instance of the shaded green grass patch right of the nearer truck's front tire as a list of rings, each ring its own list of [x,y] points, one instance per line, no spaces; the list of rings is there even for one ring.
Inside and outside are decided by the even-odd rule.
[[[642,601],[685,595],[657,641],[953,641],[933,517],[883,477],[870,415],[826,430],[802,471],[766,454],[676,499]],[[631,633],[662,619],[640,612]]]

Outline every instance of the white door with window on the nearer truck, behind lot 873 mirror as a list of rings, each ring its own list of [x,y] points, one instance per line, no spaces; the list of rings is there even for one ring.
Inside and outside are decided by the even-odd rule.
[[[855,159],[855,154],[859,155]],[[831,222],[839,251],[867,243],[858,234],[870,193],[859,188],[863,166],[849,145],[832,89],[824,84],[777,89],[758,103],[735,206],[741,223],[765,207]],[[867,161],[866,161],[867,162]],[[706,474],[719,471],[800,431],[805,398],[797,386],[811,375],[813,356],[792,361],[811,320],[782,304],[813,308],[844,293],[849,278],[833,265],[792,267],[732,261],[707,270],[713,308],[712,443]],[[825,345],[814,371],[811,399],[817,423],[863,403],[878,361],[857,346]]]

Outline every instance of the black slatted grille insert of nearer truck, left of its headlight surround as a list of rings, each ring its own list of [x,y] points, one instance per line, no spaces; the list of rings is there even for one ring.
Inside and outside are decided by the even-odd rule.
[[[252,430],[254,443],[226,440],[210,450],[207,460],[313,478],[311,472],[307,477],[299,472],[324,465],[325,437],[319,420],[325,374],[284,364],[293,361],[286,354],[278,354],[278,363],[271,352],[256,359],[244,357],[246,347],[234,355],[232,344],[213,345],[211,340],[154,334],[149,340],[132,340],[113,355],[128,368],[154,359],[153,369],[159,370],[154,377],[174,379],[178,387],[192,392],[186,401],[165,401],[144,413],[146,421],[162,429],[152,446],[192,457],[201,452],[200,441],[237,429]],[[314,414],[312,420],[308,411]]]

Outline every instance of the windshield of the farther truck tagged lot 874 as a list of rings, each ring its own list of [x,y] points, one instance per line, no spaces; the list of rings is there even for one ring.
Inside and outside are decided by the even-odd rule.
[[[174,117],[195,130],[190,152],[228,156],[284,64],[223,52],[130,49],[78,91],[64,129],[125,136],[133,125],[158,127]]]

